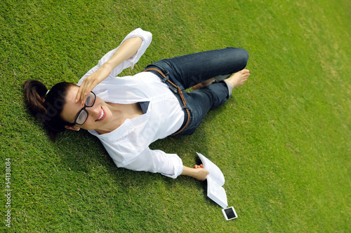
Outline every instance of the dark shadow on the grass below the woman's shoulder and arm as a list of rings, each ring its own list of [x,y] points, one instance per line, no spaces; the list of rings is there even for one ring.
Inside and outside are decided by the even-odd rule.
[[[187,140],[186,137],[184,137],[183,140]],[[180,139],[180,137],[162,139],[153,143],[152,148],[164,150],[166,153],[179,152],[178,154],[182,154],[185,147],[183,148],[183,146],[177,145],[183,145],[183,143],[185,143],[183,140]],[[177,178],[175,181],[161,174],[118,168],[100,141],[86,131],[64,132],[58,136],[58,141],[55,144],[60,150],[63,150],[61,161],[64,167],[68,167],[78,174],[86,174],[87,176],[106,171],[110,178],[123,187],[138,186],[139,188],[143,188],[154,181],[165,182],[170,187],[175,183],[183,183],[183,185],[188,185],[190,187],[198,183],[197,186],[201,186],[201,182],[196,182],[194,178],[190,177],[180,176],[180,178]],[[196,153],[194,154],[195,155],[192,157],[187,157],[187,159],[194,160]],[[184,158],[184,156],[182,158]],[[104,178],[106,177],[105,175]]]

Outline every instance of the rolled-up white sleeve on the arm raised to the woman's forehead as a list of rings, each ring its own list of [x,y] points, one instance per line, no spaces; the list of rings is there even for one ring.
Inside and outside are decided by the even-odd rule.
[[[114,48],[113,50],[111,50],[110,52],[107,52],[107,54],[105,54],[98,62],[98,64],[96,66],[94,66],[92,69],[90,69],[77,83],[78,85],[81,85],[81,83],[83,83],[83,80],[88,77],[91,76],[92,73],[94,73],[95,71],[97,71],[100,66],[102,66],[102,64],[104,64],[105,62],[107,62],[113,55],[114,52],[116,52],[118,50],[118,48],[121,46],[122,43],[124,43],[124,41],[128,40],[129,38],[133,38],[133,37],[140,37],[143,39],[142,44],[140,45],[140,48],[138,49],[138,52],[133,55],[132,57],[129,57],[128,59],[126,59],[124,62],[122,62],[121,64],[119,64],[118,66],[116,66],[110,73],[109,77],[115,77],[117,75],[119,75],[119,73],[121,73],[121,71],[123,71],[124,69],[131,67],[131,69],[133,69],[133,66],[135,63],[137,63],[140,59],[140,57],[145,53],[146,49],[149,47],[151,41],[152,41],[152,34],[149,31],[144,31],[143,29],[137,28],[134,31],[131,31],[131,33],[129,33],[124,40],[119,44],[119,46],[117,48]]]

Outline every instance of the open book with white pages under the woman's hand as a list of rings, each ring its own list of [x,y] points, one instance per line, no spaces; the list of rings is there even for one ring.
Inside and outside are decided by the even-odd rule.
[[[199,155],[202,164],[204,165],[204,169],[210,172],[207,175],[207,197],[211,198],[214,202],[222,206],[222,208],[226,208],[228,206],[227,202],[227,194],[225,193],[224,188],[222,187],[225,183],[225,179],[222,171],[208,158],[204,157],[200,153]]]

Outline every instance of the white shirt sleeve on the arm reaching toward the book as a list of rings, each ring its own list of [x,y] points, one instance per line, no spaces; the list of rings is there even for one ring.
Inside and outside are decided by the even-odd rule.
[[[113,156],[111,156],[113,159]],[[183,162],[176,154],[167,154],[162,150],[150,150],[147,148],[136,156],[133,162],[119,164],[114,160],[117,167],[124,167],[133,171],[150,171],[161,173],[164,176],[177,178],[183,172]]]

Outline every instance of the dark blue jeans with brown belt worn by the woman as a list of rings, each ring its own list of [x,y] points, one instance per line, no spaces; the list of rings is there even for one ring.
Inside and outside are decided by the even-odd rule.
[[[248,59],[249,54],[244,49],[224,48],[162,59],[147,66],[145,71],[157,74],[173,91],[185,111],[183,126],[172,135],[193,134],[206,113],[229,98],[227,85],[223,81],[190,93],[185,90],[209,78],[229,77],[232,73],[244,69]]]

